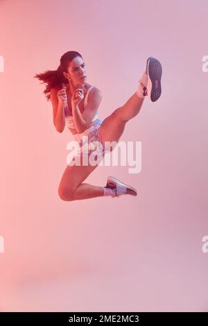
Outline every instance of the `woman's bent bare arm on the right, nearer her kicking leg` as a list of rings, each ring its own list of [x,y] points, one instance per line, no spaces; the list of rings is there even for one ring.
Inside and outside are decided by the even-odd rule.
[[[102,93],[99,89],[94,88],[88,95],[88,101],[83,114],[81,114],[78,104],[71,103],[73,121],[78,133],[84,132],[92,125],[92,119],[98,110],[102,101]]]

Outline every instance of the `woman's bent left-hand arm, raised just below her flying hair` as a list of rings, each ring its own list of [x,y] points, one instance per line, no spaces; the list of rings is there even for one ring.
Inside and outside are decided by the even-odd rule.
[[[58,96],[59,93],[59,96]],[[53,106],[53,124],[58,132],[62,132],[65,128],[65,117],[64,117],[64,100],[60,96],[56,87],[50,91],[51,103]]]

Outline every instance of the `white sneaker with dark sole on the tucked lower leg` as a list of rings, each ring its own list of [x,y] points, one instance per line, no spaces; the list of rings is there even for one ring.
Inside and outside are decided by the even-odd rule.
[[[114,190],[114,196],[119,197],[121,195],[132,195],[137,196],[137,190],[133,187],[125,185],[125,183],[119,181],[114,177],[107,177],[107,183],[105,188],[110,188]]]

